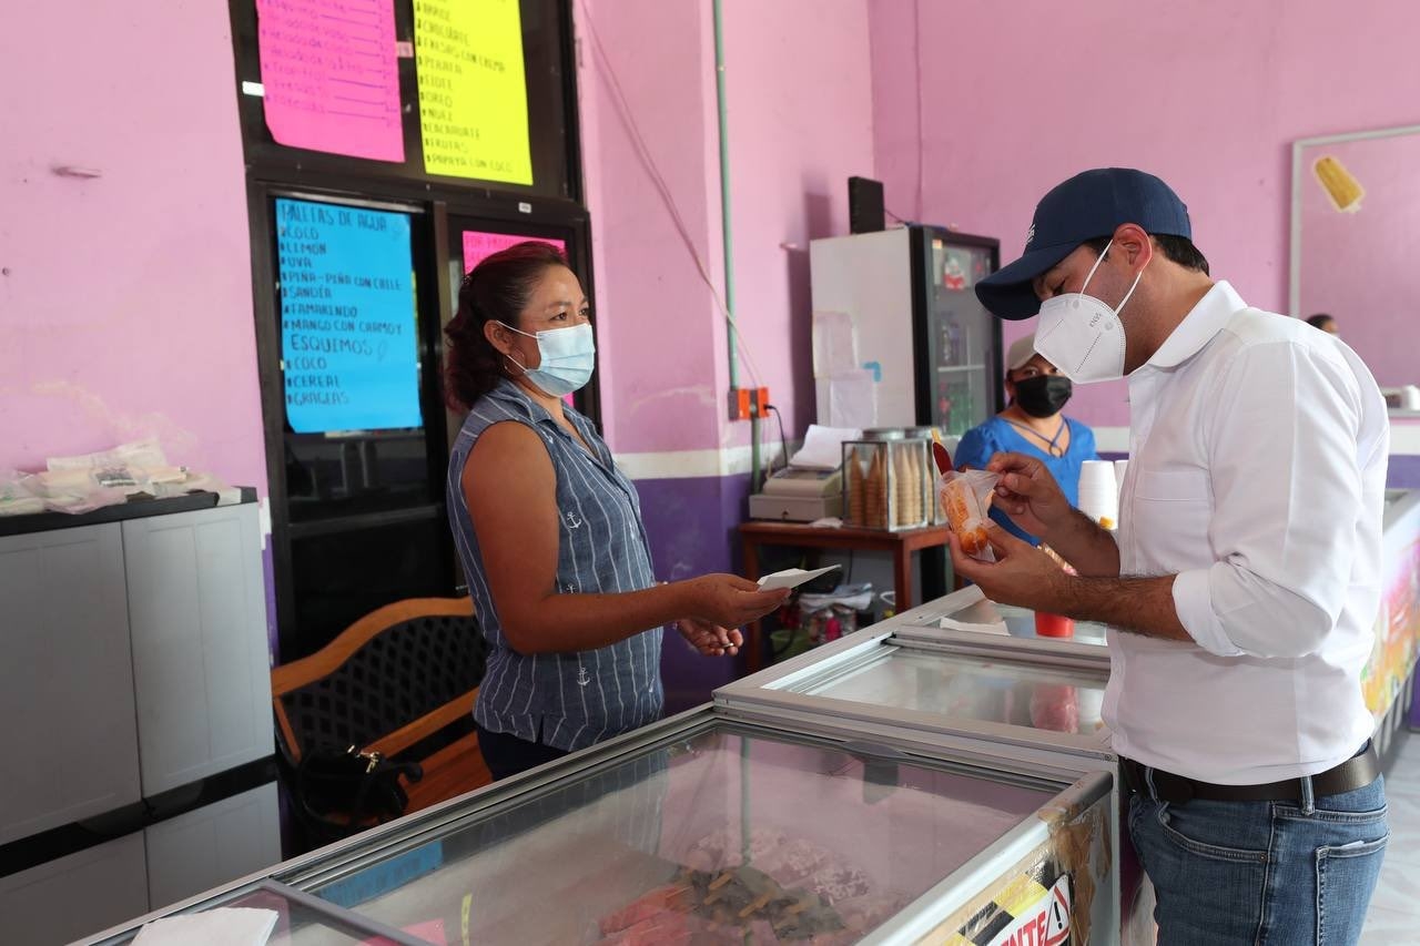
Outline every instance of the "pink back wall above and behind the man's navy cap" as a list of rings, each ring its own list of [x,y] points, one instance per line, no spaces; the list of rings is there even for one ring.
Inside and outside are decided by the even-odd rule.
[[[1145,168],[1187,202],[1214,274],[1285,311],[1292,141],[1420,122],[1420,7],[1379,6],[869,0],[888,205],[998,236],[1014,259],[1051,186]],[[1081,391],[1074,413],[1126,423],[1122,385]]]

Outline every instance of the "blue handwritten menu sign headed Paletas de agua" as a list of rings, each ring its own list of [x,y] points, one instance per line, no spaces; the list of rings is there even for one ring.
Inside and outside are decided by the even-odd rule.
[[[275,219],[291,429],[422,426],[409,214],[278,197]]]

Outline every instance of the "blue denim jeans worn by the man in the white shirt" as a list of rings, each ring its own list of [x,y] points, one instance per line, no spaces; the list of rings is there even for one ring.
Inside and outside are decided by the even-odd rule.
[[[1390,832],[1382,778],[1302,803],[1129,801],[1159,946],[1355,943]]]

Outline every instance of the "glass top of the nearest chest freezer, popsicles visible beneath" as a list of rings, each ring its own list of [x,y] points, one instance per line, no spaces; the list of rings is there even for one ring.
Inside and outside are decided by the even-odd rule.
[[[909,754],[706,707],[379,828],[283,879],[392,928],[456,929],[471,916],[476,942],[594,943],[636,910],[656,913],[667,888],[713,906],[701,903],[709,884],[730,874],[727,895],[790,892],[815,922],[906,943],[1110,784],[1103,773],[1011,777],[930,747]],[[437,869],[372,882],[430,851]],[[764,933],[754,922],[740,932]]]

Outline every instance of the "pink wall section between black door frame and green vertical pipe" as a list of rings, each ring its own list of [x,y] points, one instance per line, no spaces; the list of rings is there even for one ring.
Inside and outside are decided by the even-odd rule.
[[[726,403],[724,331],[616,98],[619,85],[692,246],[719,284],[710,7],[588,0],[575,11],[608,445],[618,453],[714,447]]]

